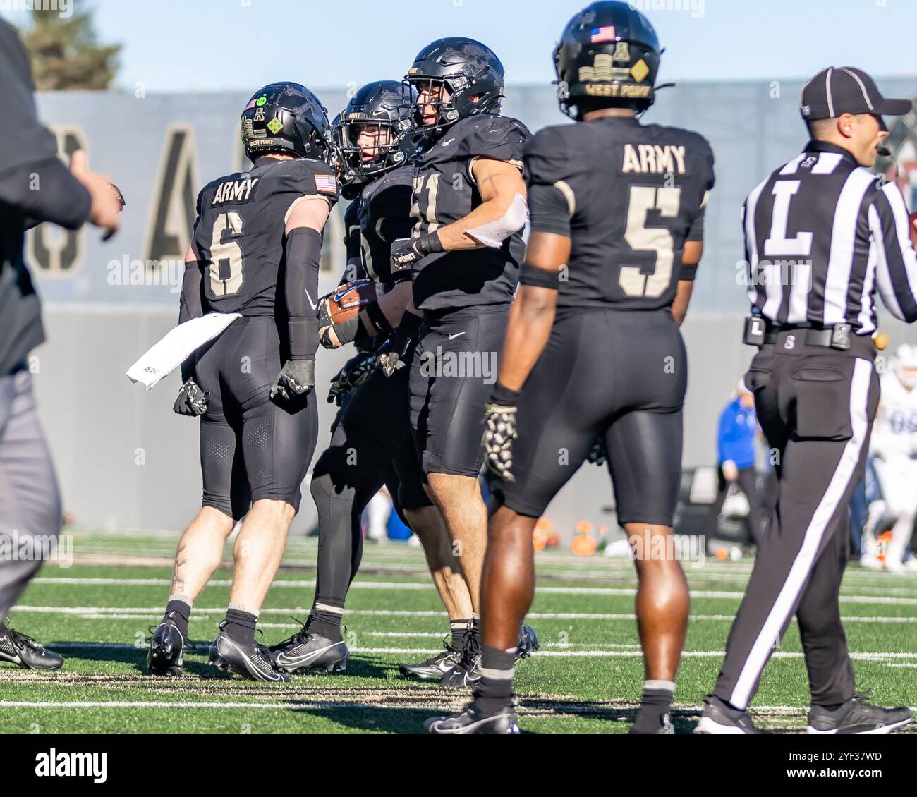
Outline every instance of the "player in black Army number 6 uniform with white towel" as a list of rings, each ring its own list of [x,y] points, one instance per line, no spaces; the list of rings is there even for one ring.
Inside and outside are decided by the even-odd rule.
[[[318,265],[337,179],[326,162],[325,108],[304,86],[260,89],[241,127],[252,167],[198,195],[179,320],[208,312],[242,317],[182,364],[174,410],[201,417],[204,500],[179,542],[148,665],[157,674],[181,672],[192,603],[244,515],[210,663],[253,680],[289,681],[255,642],[255,624],[315,451]]]

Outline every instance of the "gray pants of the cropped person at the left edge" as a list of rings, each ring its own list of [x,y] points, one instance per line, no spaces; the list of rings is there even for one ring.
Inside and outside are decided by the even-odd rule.
[[[47,540],[60,532],[57,477],[32,375],[23,369],[0,376],[0,624],[41,566],[35,552],[46,546],[29,545],[28,537]]]

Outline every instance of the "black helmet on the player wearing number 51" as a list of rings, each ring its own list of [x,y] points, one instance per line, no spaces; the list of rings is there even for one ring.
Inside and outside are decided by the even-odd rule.
[[[499,114],[503,100],[503,64],[488,47],[474,39],[450,36],[436,39],[421,50],[414,66],[404,76],[404,83],[419,94],[439,86],[447,100],[412,105],[414,132],[437,137],[459,119],[477,114]],[[475,98],[475,99],[472,99]],[[436,122],[426,124],[423,107],[436,108]]]

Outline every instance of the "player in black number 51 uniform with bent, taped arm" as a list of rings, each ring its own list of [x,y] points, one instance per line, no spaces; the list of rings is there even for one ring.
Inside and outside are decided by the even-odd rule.
[[[418,93],[414,130],[423,138],[414,172],[414,231],[392,246],[392,264],[412,275],[413,312],[404,315],[379,360],[384,372],[397,371],[409,341],[419,338],[410,374],[415,443],[475,611],[462,659],[441,682],[467,686],[478,677],[487,543],[478,483],[481,406],[496,379],[525,249],[522,154],[529,132],[500,115],[503,64],[478,41],[436,40],[414,59],[405,82]],[[527,636],[525,642],[536,644]]]

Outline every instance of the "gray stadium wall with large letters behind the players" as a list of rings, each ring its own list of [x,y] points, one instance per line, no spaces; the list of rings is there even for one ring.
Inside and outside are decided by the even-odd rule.
[[[917,88],[898,80],[880,81],[880,87],[888,94]],[[736,282],[735,264],[743,257],[738,209],[770,169],[801,148],[799,89],[800,83],[683,84],[661,92],[646,116],[699,130],[716,155],[704,260],[684,327],[691,363],[685,465],[713,463],[716,416],[751,356],[739,342],[746,304]],[[331,116],[346,101],[342,94],[319,94]],[[533,130],[565,120],[550,87],[511,88],[509,94],[506,112]],[[198,505],[196,423],[171,413],[178,376],[144,393],[124,371],[175,323],[176,272],[149,261],[181,263],[197,191],[215,176],[240,168],[237,120],[246,99],[242,94],[39,95],[39,111],[59,133],[61,151],[88,145],[93,168],[109,174],[127,197],[122,230],[106,244],[92,229],[68,235],[43,226],[28,245],[50,339],[32,363],[40,411],[64,503],[81,525],[179,529]],[[326,290],[343,266],[341,210],[339,205],[326,235]],[[134,264],[127,282],[142,284],[122,283],[125,261]],[[905,339],[901,325],[886,328],[893,343]],[[908,339],[917,336],[909,331]],[[345,357],[324,351],[319,357],[325,430],[319,451],[332,416],[325,385]],[[607,522],[602,508],[611,503],[604,470],[584,468],[548,516],[561,530],[580,519],[599,526]],[[311,526],[314,519],[306,496],[296,527]]]

